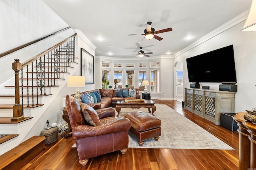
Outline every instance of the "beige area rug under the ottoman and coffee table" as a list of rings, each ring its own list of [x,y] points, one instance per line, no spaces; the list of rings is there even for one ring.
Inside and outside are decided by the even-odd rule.
[[[155,106],[156,111],[154,115],[162,121],[162,130],[159,140],[155,141],[154,138],[148,139],[144,141],[144,145],[140,147],[137,140],[129,135],[129,148],[233,149],[167,105],[156,104]],[[144,111],[148,113],[148,108],[121,108],[120,117],[132,111]]]

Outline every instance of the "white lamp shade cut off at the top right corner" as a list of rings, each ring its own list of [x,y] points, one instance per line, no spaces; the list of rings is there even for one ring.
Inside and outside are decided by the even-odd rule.
[[[241,31],[256,31],[256,0],[252,0],[250,12]]]

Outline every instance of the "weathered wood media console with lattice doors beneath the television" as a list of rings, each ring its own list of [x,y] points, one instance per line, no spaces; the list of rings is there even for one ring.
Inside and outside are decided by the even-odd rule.
[[[185,88],[186,110],[220,125],[221,113],[234,113],[236,92]]]

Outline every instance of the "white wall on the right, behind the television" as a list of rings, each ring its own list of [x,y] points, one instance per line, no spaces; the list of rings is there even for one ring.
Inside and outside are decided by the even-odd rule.
[[[190,82],[188,82],[186,58],[233,44],[238,85],[238,90],[235,95],[234,111],[235,113],[245,112],[246,109],[251,110],[256,106],[256,32],[240,31],[244,25],[244,21],[240,23],[238,22],[235,25],[230,25],[231,27],[227,30],[217,33],[207,41],[198,43],[188,51],[176,56],[174,61],[176,62],[180,60],[183,62],[184,88],[189,88]],[[223,29],[223,27],[220,27],[220,29]],[[215,31],[218,32],[219,30]],[[225,56],[223,55],[223,57]],[[210,89],[218,90],[219,84],[220,83],[200,83],[200,87],[210,86]]]

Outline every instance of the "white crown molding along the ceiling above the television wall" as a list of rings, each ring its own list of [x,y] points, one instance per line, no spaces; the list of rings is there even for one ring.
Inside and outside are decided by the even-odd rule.
[[[210,33],[206,34],[204,37],[198,39],[197,41],[195,41],[194,43],[188,45],[187,47],[185,47],[184,49],[180,50],[179,52],[174,54],[174,58],[178,57],[179,55],[185,53],[186,51],[189,51],[190,49],[204,43],[205,41],[208,41],[209,39],[215,37],[216,35],[219,35],[220,33],[230,29],[231,27],[234,27],[235,25],[243,22],[244,20],[246,20],[248,14],[250,12],[250,9],[246,10],[245,12],[243,12],[242,14],[236,16],[235,18],[233,18],[232,20],[224,23],[223,25],[221,25],[220,27],[214,29],[213,31],[211,31]]]

